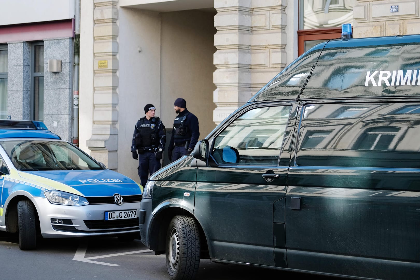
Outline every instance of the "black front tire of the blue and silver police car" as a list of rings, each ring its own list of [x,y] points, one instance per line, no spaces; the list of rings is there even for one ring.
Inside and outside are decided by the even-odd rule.
[[[37,247],[35,207],[29,200],[18,202],[19,248],[33,250]]]

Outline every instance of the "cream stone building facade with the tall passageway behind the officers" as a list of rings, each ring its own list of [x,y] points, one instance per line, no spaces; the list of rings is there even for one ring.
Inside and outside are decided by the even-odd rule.
[[[183,97],[205,138],[344,23],[354,38],[420,33],[419,0],[82,1],[80,147],[137,178],[130,145],[144,105],[170,131]]]

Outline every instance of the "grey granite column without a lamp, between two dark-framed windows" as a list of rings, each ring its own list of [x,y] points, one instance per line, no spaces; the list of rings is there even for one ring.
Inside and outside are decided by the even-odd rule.
[[[7,112],[12,120],[29,120],[31,112],[31,45],[8,44]]]

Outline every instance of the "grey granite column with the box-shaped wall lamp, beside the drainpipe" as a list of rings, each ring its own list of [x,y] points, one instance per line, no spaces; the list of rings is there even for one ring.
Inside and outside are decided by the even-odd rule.
[[[61,60],[61,72],[48,71],[48,60]],[[44,123],[64,140],[71,140],[73,39],[44,41]]]

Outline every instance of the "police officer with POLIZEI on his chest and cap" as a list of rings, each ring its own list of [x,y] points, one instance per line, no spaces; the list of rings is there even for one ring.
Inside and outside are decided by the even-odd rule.
[[[166,143],[165,126],[159,117],[155,117],[155,110],[152,104],[144,106],[146,116],[139,119],[134,127],[131,152],[133,159],[139,160],[138,172],[142,186],[146,184],[149,173],[155,173],[162,166],[160,160]]]

